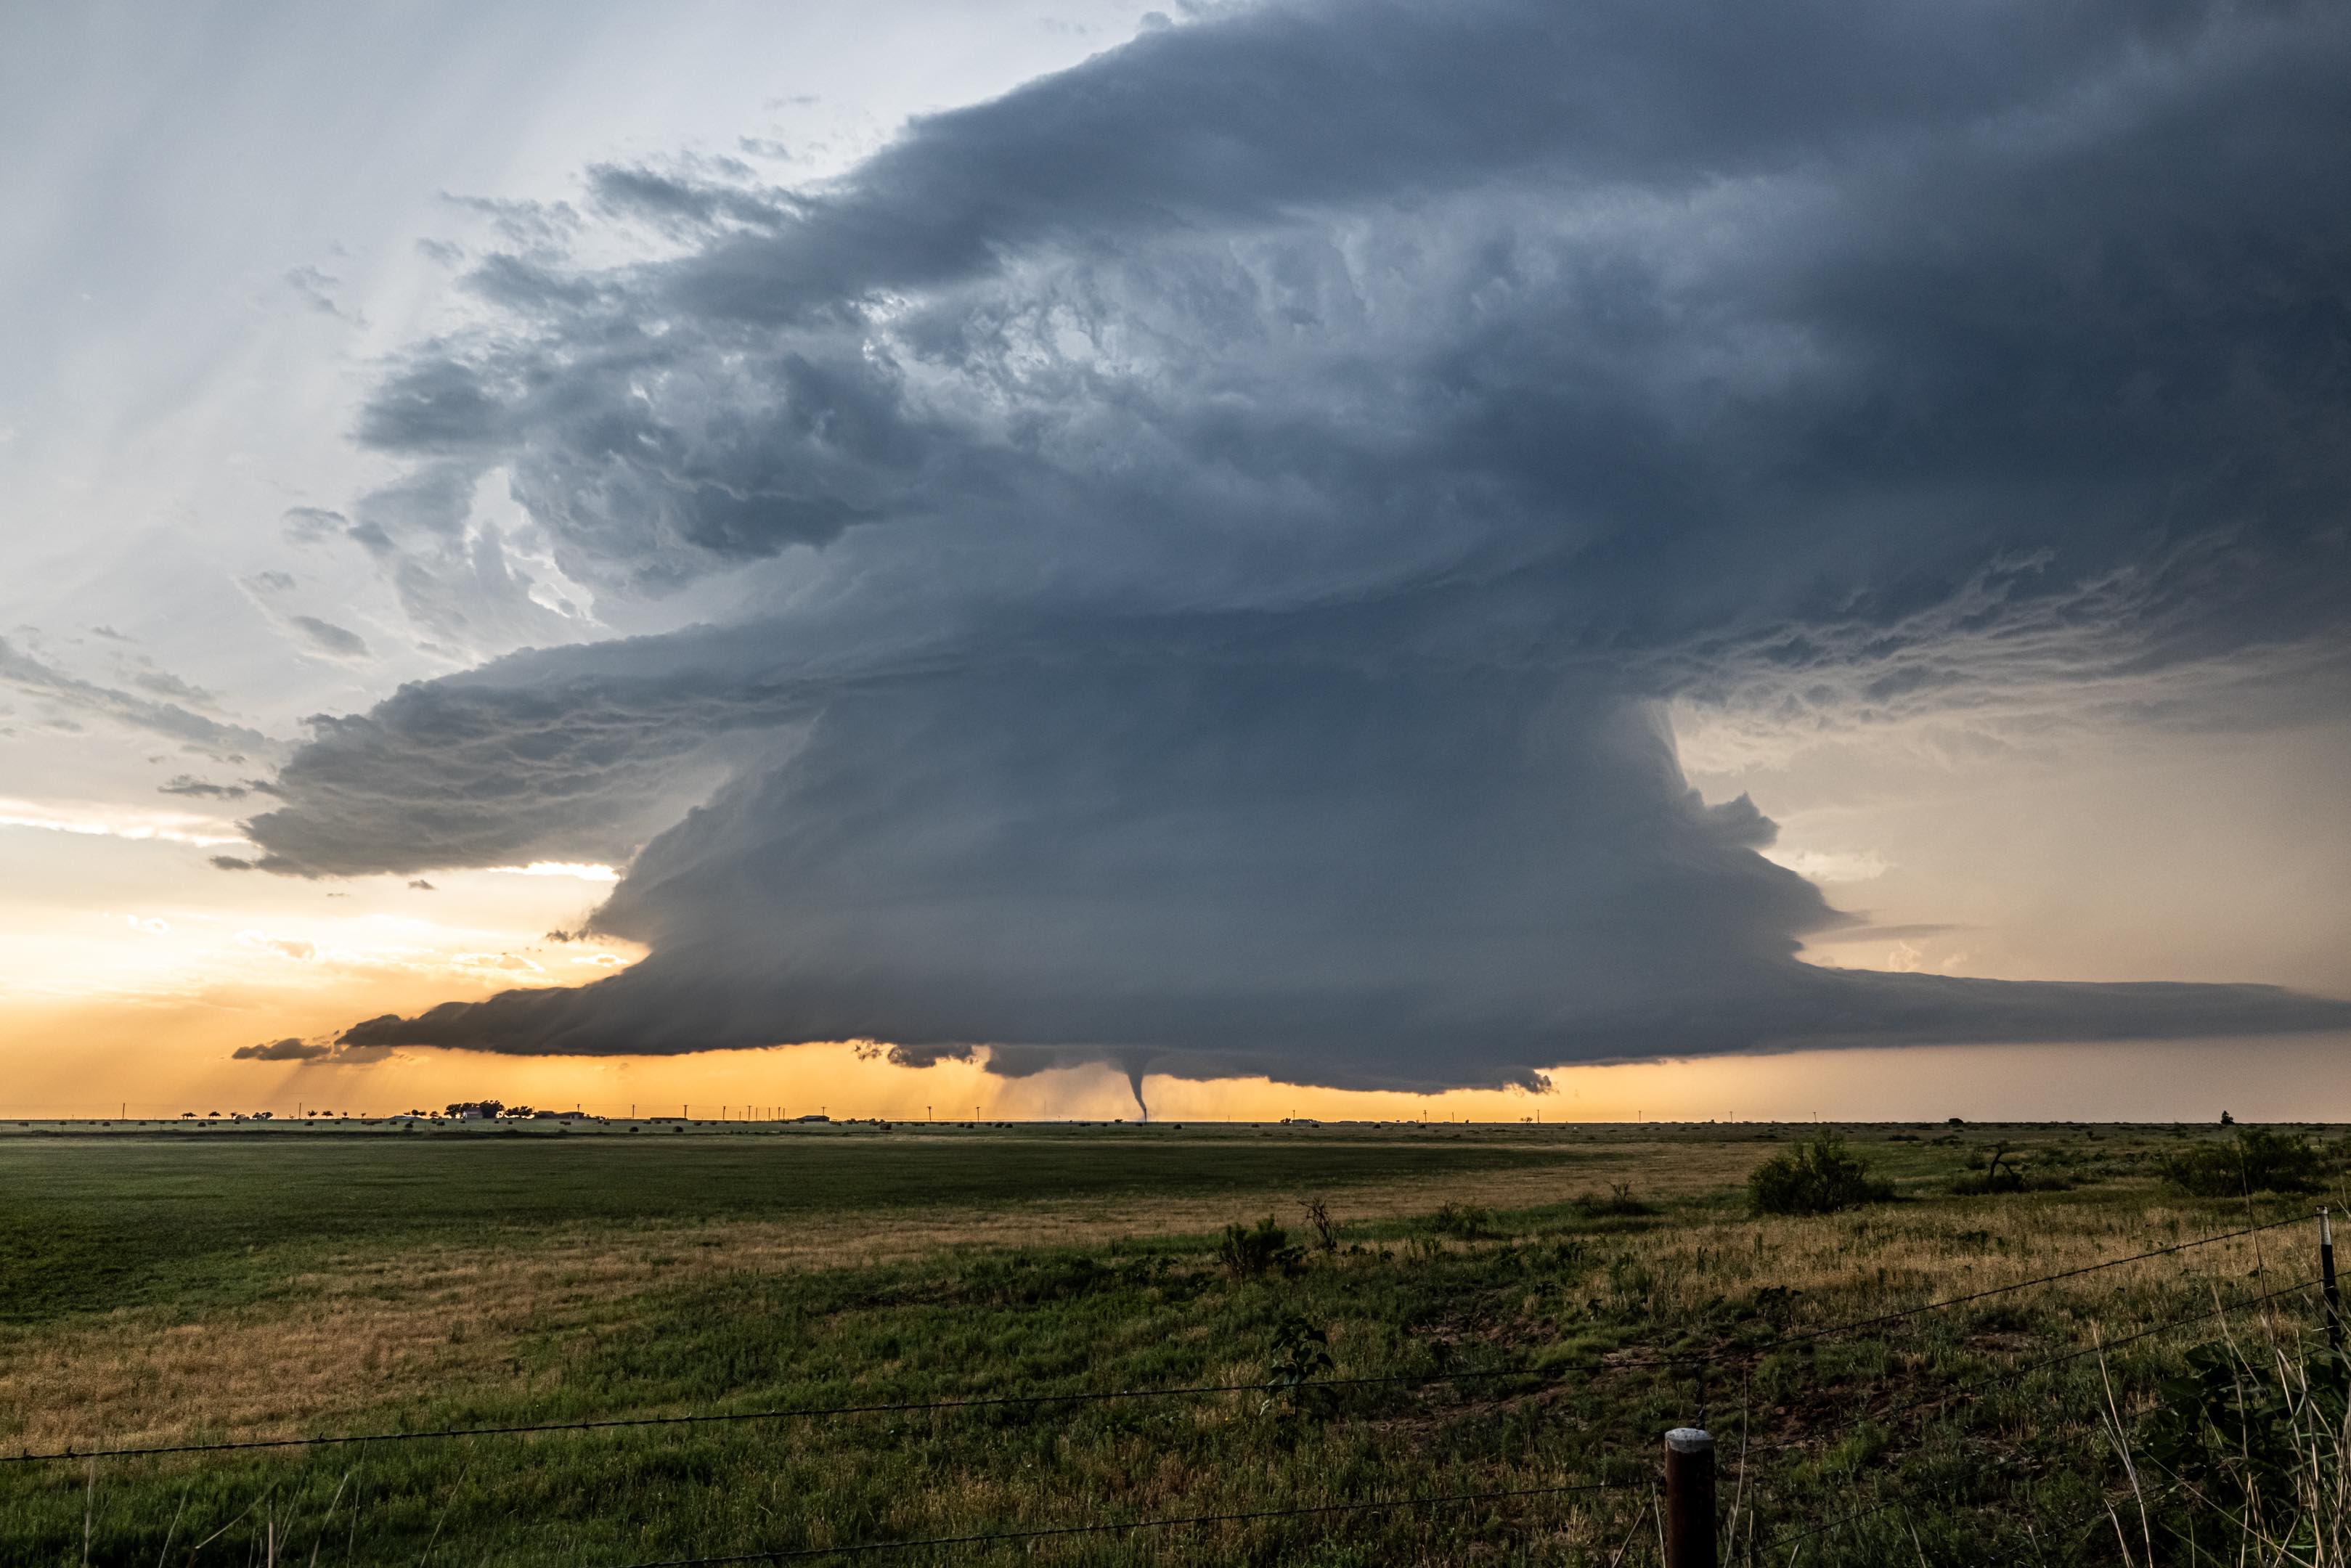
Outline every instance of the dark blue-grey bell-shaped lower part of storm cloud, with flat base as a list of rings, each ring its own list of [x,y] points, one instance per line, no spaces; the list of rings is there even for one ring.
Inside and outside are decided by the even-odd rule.
[[[1794,938],[1841,917],[1751,853],[1770,825],[1744,799],[1681,785],[1643,705],[1547,670],[1161,644],[844,696],[788,766],[637,858],[592,931],[649,959],[348,1039],[1004,1044],[1425,1088],[1681,1051],[2351,1023],[2264,987],[1813,971]]]

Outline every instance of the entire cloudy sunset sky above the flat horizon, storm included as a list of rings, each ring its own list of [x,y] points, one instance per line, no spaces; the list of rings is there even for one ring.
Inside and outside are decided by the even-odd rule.
[[[0,1114],[2351,1117],[2351,12],[0,16]]]

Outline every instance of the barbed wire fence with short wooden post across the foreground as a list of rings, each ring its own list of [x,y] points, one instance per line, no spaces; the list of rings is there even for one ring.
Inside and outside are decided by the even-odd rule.
[[[1486,1380],[1512,1380],[1521,1392],[1535,1392],[1547,1387],[1561,1387],[1578,1378],[1592,1378],[1601,1373],[1622,1371],[1665,1371],[1665,1373],[1693,1373],[1697,1375],[1697,1410],[1700,1420],[1704,1413],[1704,1375],[1709,1366],[1723,1366],[1735,1361],[1747,1361],[1749,1366],[1761,1356],[1782,1354],[1791,1347],[1817,1345],[1836,1335],[1853,1335],[1874,1328],[1890,1328],[1911,1319],[1923,1319],[1940,1312],[1951,1312],[1958,1307],[1980,1305],[2003,1295],[2015,1295],[2022,1291],[2034,1291],[2050,1284],[2062,1284],[2071,1279],[2083,1279],[2090,1274],[2102,1274],[2109,1269],[2121,1269],[2137,1262],[2156,1262],[2168,1258],[2179,1258],[2184,1253],[2219,1246],[2226,1241],[2241,1241],[2248,1237],[2259,1237],[2290,1225],[2309,1222],[2311,1215],[2297,1213],[2285,1215],[2264,1225],[2245,1225],[2231,1232],[2217,1232],[2208,1237],[2193,1237],[2186,1241],[2175,1241],[2168,1246],[2154,1246],[2123,1258],[2106,1258],[2090,1265],[2078,1265],[2069,1269],[2057,1269],[2050,1274],[2038,1274],[2031,1279],[2017,1279],[2001,1286],[1987,1286],[1982,1291],[1968,1291],[1961,1295],[1949,1295],[1916,1307],[1902,1307],[1895,1312],[1878,1312],[1871,1316],[1843,1319],[1834,1324],[1820,1324],[1813,1328],[1794,1333],[1773,1333],[1761,1342],[1719,1342],[1707,1352],[1681,1352],[1681,1354],[1648,1354],[1648,1356],[1603,1356],[1578,1361],[1568,1366],[1483,1366],[1483,1368],[1444,1368],[1444,1371],[1418,1371],[1418,1373],[1380,1373],[1380,1375],[1349,1375],[1349,1378],[1312,1378],[1298,1385],[1284,1385],[1295,1389],[1375,1389],[1375,1387],[1434,1387],[1434,1385],[1462,1385],[1462,1382],[1486,1382]],[[2327,1345],[2339,1354],[2342,1345],[2342,1312],[2335,1281],[2335,1253],[2332,1253],[2332,1227],[2327,1211],[2316,1213],[2320,1225],[2320,1269],[2313,1276],[2295,1279],[2292,1284],[2276,1286],[2269,1291],[2238,1295],[2236,1300],[2219,1302],[2203,1312],[2179,1314],[2158,1324],[2135,1328],[2132,1333],[2118,1338],[2099,1338],[2092,1345],[2067,1349],[2050,1356],[2038,1356],[2022,1361],[1980,1378],[1956,1382],[1940,1394],[1909,1399],[1883,1410],[1862,1410],[1857,1420],[1888,1427],[1904,1418],[1925,1418],[1933,1410],[1949,1408],[1954,1403],[1975,1401],[1987,1389],[2022,1382],[2034,1373],[2045,1373],[2088,1356],[2104,1356],[2125,1345],[2154,1340],[2158,1335],[2172,1333],[2177,1328],[2191,1328],[2198,1324],[2210,1324],[2226,1319],[2236,1312],[2248,1312],[2271,1302],[2283,1302],[2288,1298],[2302,1298],[2309,1293],[2320,1295],[2323,1328]],[[736,1425],[759,1425],[759,1422],[825,1422],[825,1420],[849,1420],[849,1418],[875,1418],[875,1415],[945,1415],[945,1413],[969,1413],[969,1410],[1006,1410],[1006,1408],[1077,1408],[1089,1403],[1114,1403],[1114,1401],[1161,1401],[1161,1399],[1206,1399],[1223,1394],[1265,1394],[1267,1382],[1197,1382],[1197,1385],[1161,1385],[1161,1387],[1124,1387],[1124,1389],[1074,1389],[1074,1392],[1016,1392],[1016,1394],[976,1394],[959,1399],[919,1399],[919,1401],[863,1401],[863,1403],[823,1403],[823,1406],[781,1406],[781,1408],[755,1408],[755,1410],[689,1410],[672,1415],[625,1415],[625,1418],[600,1418],[600,1420],[562,1420],[562,1422],[503,1422],[503,1425],[473,1425],[473,1427],[416,1427],[416,1429],[386,1429],[386,1432],[357,1432],[357,1434],[308,1434],[308,1436],[266,1436],[266,1439],[221,1439],[221,1441],[197,1441],[197,1443],[92,1443],[92,1446],[63,1446],[49,1450],[24,1448],[19,1453],[0,1455],[0,1467],[31,1467],[52,1462],[85,1462],[94,1465],[99,1460],[136,1460],[136,1458],[174,1458],[174,1455],[226,1455],[226,1453],[254,1453],[254,1450],[289,1450],[289,1448],[329,1448],[329,1446],[386,1446],[386,1443],[418,1443],[418,1441],[465,1441],[465,1439],[494,1439],[494,1436],[538,1436],[538,1434],[597,1434],[597,1432],[625,1432],[625,1429],[663,1429],[663,1427],[736,1427]],[[1921,1434],[1925,1422],[1921,1420]],[[816,1561],[816,1559],[863,1559],[863,1556],[889,1556],[905,1552],[933,1552],[952,1554],[964,1549],[992,1549],[992,1547],[1016,1547],[1034,1544],[1049,1540],[1067,1537],[1121,1537],[1136,1533],[1159,1533],[1159,1530],[1187,1530],[1187,1528],[1211,1528],[1211,1526],[1234,1526],[1234,1523],[1267,1523],[1286,1519],[1342,1519],[1364,1514],[1401,1514],[1401,1512],[1436,1512],[1448,1507],[1474,1507],[1538,1497],[1563,1497],[1563,1495],[1599,1495],[1599,1493],[1650,1493],[1650,1509],[1657,1514],[1660,1556],[1665,1568],[1716,1568],[1716,1563],[1773,1563],[1777,1554],[1806,1547],[1813,1540],[1831,1537],[1838,1530],[1860,1526],[1869,1519],[1895,1509],[1909,1509],[1914,1497],[1907,1490],[1895,1490],[1890,1497],[1881,1497],[1864,1507],[1836,1514],[1824,1521],[1813,1521],[1803,1526],[1784,1526],[1773,1535],[1756,1540],[1754,1535],[1754,1509],[1744,1509],[1747,1540],[1728,1542],[1728,1549],[1716,1542],[1716,1495],[1714,1495],[1714,1465],[1712,1465],[1712,1436],[1697,1429],[1676,1429],[1669,1439],[1697,1436],[1704,1439],[1704,1465],[1681,1462],[1676,1465],[1676,1446],[1669,1441],[1667,1462],[1662,1472],[1653,1465],[1629,1460],[1625,1450],[1606,1450],[1587,1455],[1594,1462],[1620,1460],[1629,1465],[1627,1479],[1615,1481],[1559,1481],[1542,1486],[1514,1486],[1514,1488],[1486,1488],[1486,1490],[1458,1490],[1458,1493],[1427,1493],[1427,1495],[1389,1495],[1389,1497],[1366,1497],[1349,1502],[1326,1502],[1326,1505],[1293,1505],[1293,1507],[1265,1507],[1265,1509],[1232,1509],[1232,1512],[1206,1512],[1206,1514],[1173,1514],[1173,1516],[1145,1516],[1145,1519],[1086,1519],[1053,1526],[1032,1526],[1016,1530],[978,1530],[959,1535],[903,1535],[903,1537],[877,1537],[877,1540],[851,1540],[832,1544],[778,1544],[771,1549],[750,1552],[726,1552],[715,1556],[675,1556],[656,1559],[642,1563],[625,1563],[616,1568],[719,1568],[724,1563],[776,1563],[776,1561]],[[1742,1422],[1742,1450],[1740,1467],[1744,1467],[1756,1455],[1777,1455],[1803,1450],[1810,1443],[1806,1439],[1784,1439],[1751,1443],[1744,1439]],[[1650,1450],[1655,1453],[1655,1450]],[[1695,1446],[1693,1446],[1695,1453]],[[1690,1495],[1702,1486],[1702,1495]],[[2097,1505],[2074,1519],[2067,1526],[2055,1526],[2057,1533],[2081,1530],[2085,1523],[2095,1523],[2102,1516],[2114,1514],[2121,1500],[2106,1497],[2099,1490]],[[1643,1516],[1648,1509],[1643,1509]],[[1702,1519],[1700,1526],[1688,1526],[1686,1521]],[[1683,1526],[1683,1540],[1676,1542],[1676,1530],[1672,1526]],[[1636,1521],[1639,1528],[1639,1521]],[[1733,1523],[1733,1530],[1737,1521]],[[1700,1530],[1700,1537],[1690,1537],[1688,1530]],[[1629,1544],[1632,1537],[1627,1537]],[[1622,1552],[1620,1552],[1622,1556]]]

